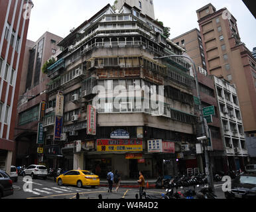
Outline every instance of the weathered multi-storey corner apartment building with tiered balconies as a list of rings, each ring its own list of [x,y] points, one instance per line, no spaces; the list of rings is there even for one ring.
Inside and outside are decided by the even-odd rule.
[[[48,68],[51,80],[42,121],[44,145],[52,146],[54,151],[44,152],[44,160],[52,157],[65,169],[84,168],[102,177],[109,168],[119,170],[124,178],[133,178],[138,170],[153,177],[198,167],[194,79],[189,74],[190,65],[180,58],[153,60],[154,56],[184,51],[162,33],[162,26],[151,17],[125,3],[119,11],[107,5],[58,44],[62,53]],[[97,123],[94,135],[87,129],[91,114],[87,109],[96,96],[92,92],[96,85],[105,87],[113,96],[99,99],[102,107],[97,109],[94,119]],[[149,89],[140,90],[139,99],[127,95],[120,99],[119,107],[113,107],[113,98],[119,94],[115,92],[117,85],[127,90],[134,85],[147,85]],[[153,85],[157,89],[152,89]],[[164,86],[163,114],[137,107],[137,101],[143,105],[150,95],[158,98],[159,85]],[[58,125],[62,123],[60,136]],[[124,132],[125,137],[118,135],[119,132]],[[169,148],[174,143],[175,147],[167,153],[151,153],[149,140],[162,140]],[[80,142],[82,148],[76,145]],[[133,144],[138,148],[133,148]],[[187,152],[178,154],[177,163],[178,155],[174,152],[180,153],[184,148]]]

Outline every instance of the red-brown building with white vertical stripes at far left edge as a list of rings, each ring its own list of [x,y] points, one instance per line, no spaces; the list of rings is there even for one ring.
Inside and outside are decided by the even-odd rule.
[[[0,169],[11,171],[14,129],[32,1],[0,1]]]

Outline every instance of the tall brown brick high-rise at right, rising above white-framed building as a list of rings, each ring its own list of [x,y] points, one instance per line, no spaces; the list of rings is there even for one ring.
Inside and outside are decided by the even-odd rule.
[[[196,11],[209,74],[237,89],[245,136],[256,133],[256,60],[243,42],[237,20],[226,8],[208,4]]]

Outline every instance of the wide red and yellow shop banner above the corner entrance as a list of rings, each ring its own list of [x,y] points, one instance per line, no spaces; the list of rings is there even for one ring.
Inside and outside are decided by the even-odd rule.
[[[141,139],[99,139],[97,152],[142,152]]]

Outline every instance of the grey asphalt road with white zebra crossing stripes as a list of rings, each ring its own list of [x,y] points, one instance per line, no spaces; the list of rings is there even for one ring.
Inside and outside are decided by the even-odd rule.
[[[78,188],[72,185],[59,186],[53,180],[42,180],[40,178],[26,184],[21,176],[18,182],[13,183],[13,185],[15,187],[13,195],[3,199],[76,199],[77,193],[79,193],[80,199],[98,199],[99,194],[102,195],[103,199],[135,199],[135,195],[139,194],[139,189],[137,188],[121,187],[117,193],[115,189],[110,193],[107,192],[107,187]],[[25,191],[24,189],[30,190]],[[147,194],[155,196],[156,199],[161,197],[161,193],[164,193],[164,189],[146,189],[145,191]],[[221,184],[216,185],[215,191],[218,199],[225,199]]]

